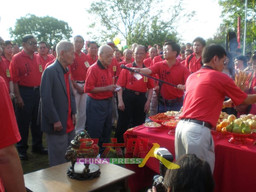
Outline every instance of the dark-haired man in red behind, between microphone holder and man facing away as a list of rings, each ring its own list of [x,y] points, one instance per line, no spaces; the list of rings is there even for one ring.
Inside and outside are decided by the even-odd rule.
[[[194,52],[186,58],[185,67],[187,67],[190,73],[195,73],[198,71],[202,63],[202,52],[206,45],[205,40],[201,37],[197,37],[193,41]]]

